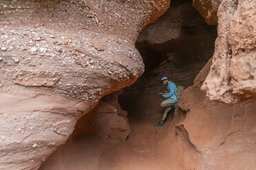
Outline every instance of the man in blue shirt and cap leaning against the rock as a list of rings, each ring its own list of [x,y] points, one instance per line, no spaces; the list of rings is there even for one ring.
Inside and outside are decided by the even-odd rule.
[[[159,93],[166,100],[162,101],[160,106],[164,109],[164,114],[162,114],[161,121],[155,126],[162,126],[164,125],[164,120],[167,118],[167,113],[171,110],[171,107],[176,108],[178,104],[178,99],[176,98],[177,95],[177,87],[176,85],[169,81],[167,77],[162,77],[161,79],[162,84],[167,85],[168,93]]]

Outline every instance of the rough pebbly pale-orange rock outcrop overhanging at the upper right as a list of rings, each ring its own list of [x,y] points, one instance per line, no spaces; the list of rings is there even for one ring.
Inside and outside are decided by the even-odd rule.
[[[211,100],[234,103],[255,96],[255,6],[255,1],[220,4],[213,64],[202,86]]]

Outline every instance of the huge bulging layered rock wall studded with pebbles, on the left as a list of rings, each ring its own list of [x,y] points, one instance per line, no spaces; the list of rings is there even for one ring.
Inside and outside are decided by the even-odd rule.
[[[144,71],[138,33],[169,1],[1,1],[0,169],[38,169],[101,97]]]

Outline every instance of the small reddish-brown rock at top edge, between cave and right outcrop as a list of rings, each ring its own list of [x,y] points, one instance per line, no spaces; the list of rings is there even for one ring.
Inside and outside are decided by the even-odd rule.
[[[200,12],[206,23],[217,25],[217,10],[220,0],[193,0],[193,7]]]

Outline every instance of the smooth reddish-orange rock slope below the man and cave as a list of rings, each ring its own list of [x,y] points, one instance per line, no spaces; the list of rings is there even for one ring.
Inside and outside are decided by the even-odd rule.
[[[210,66],[211,61],[200,71],[193,86],[184,90],[180,108],[173,119],[169,115],[163,127],[153,127],[161,111],[156,106],[160,99],[156,95],[144,100],[145,106],[140,105],[141,101],[140,107],[134,108],[137,111],[129,112],[131,133],[120,143],[106,138],[109,124],[88,124],[88,119],[82,118],[68,142],[50,156],[41,170],[255,169],[256,101],[234,105],[209,101],[200,86]],[[106,118],[109,113],[103,111],[105,108],[109,106],[101,103],[92,112],[101,110],[100,117]],[[115,108],[109,110],[114,116]]]

